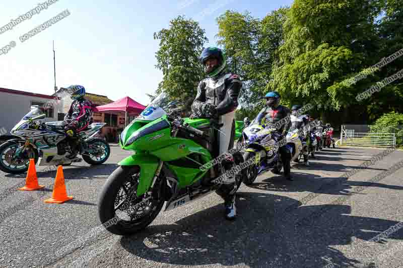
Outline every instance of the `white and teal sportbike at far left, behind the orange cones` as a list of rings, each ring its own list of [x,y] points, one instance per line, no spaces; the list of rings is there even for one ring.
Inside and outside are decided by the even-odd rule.
[[[63,121],[44,123],[43,108],[26,114],[10,131],[19,138],[8,140],[0,146],[0,169],[7,173],[23,173],[28,170],[29,159],[39,166],[70,165],[83,159],[91,165],[102,164],[110,155],[109,144],[97,137],[106,123],[93,123],[78,133],[79,145],[85,152],[82,157],[73,153],[64,133]]]

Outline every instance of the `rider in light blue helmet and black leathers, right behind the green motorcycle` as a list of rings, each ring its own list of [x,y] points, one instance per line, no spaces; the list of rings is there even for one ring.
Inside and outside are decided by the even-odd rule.
[[[266,107],[264,107],[260,113],[257,115],[258,122],[265,125],[265,128],[276,128],[277,129],[277,141],[284,142],[286,139],[287,132],[291,127],[290,109],[279,105],[280,94],[278,92],[269,92],[266,94]],[[278,122],[283,122],[280,126],[276,126]],[[286,143],[279,148],[281,159],[283,161],[284,176],[287,180],[294,181],[291,176],[291,153],[286,147]],[[275,167],[272,170],[273,173],[280,174],[280,171]]]

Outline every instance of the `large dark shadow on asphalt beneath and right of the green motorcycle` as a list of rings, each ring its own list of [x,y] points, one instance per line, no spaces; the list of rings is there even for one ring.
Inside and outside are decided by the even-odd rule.
[[[355,265],[357,260],[329,246],[349,244],[353,236],[369,240],[397,223],[345,215],[350,213],[349,206],[329,205],[313,224],[297,226],[296,220],[283,221],[284,212],[276,212],[291,203],[298,202],[278,195],[240,192],[239,216],[234,222],[223,218],[223,207],[218,205],[175,224],[150,226],[138,235],[122,237],[120,243],[131,254],[173,265],[322,267],[329,263],[324,258],[339,265]],[[298,207],[293,216],[303,218],[318,207]],[[403,239],[403,231],[389,237]]]

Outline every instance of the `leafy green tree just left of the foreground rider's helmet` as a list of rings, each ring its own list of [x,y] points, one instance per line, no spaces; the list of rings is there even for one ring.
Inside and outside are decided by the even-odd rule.
[[[168,29],[154,33],[154,39],[160,42],[156,68],[163,72],[157,94],[164,91],[190,109],[189,100],[195,98],[198,82],[204,78],[198,57],[208,42],[206,31],[198,22],[178,16],[170,21]]]

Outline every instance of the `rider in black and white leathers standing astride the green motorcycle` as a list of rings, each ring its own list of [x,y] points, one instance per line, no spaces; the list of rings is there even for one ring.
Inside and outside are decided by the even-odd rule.
[[[219,124],[224,124],[218,134],[218,151],[221,155],[234,147],[235,109],[238,107],[242,82],[238,75],[227,70],[226,59],[219,48],[205,48],[199,61],[205,67],[208,78],[201,80],[197,87],[191,118],[217,118]],[[233,160],[223,161],[226,167],[232,164]],[[235,177],[232,177],[217,191],[224,199],[225,217],[228,220],[236,217],[235,190]]]

